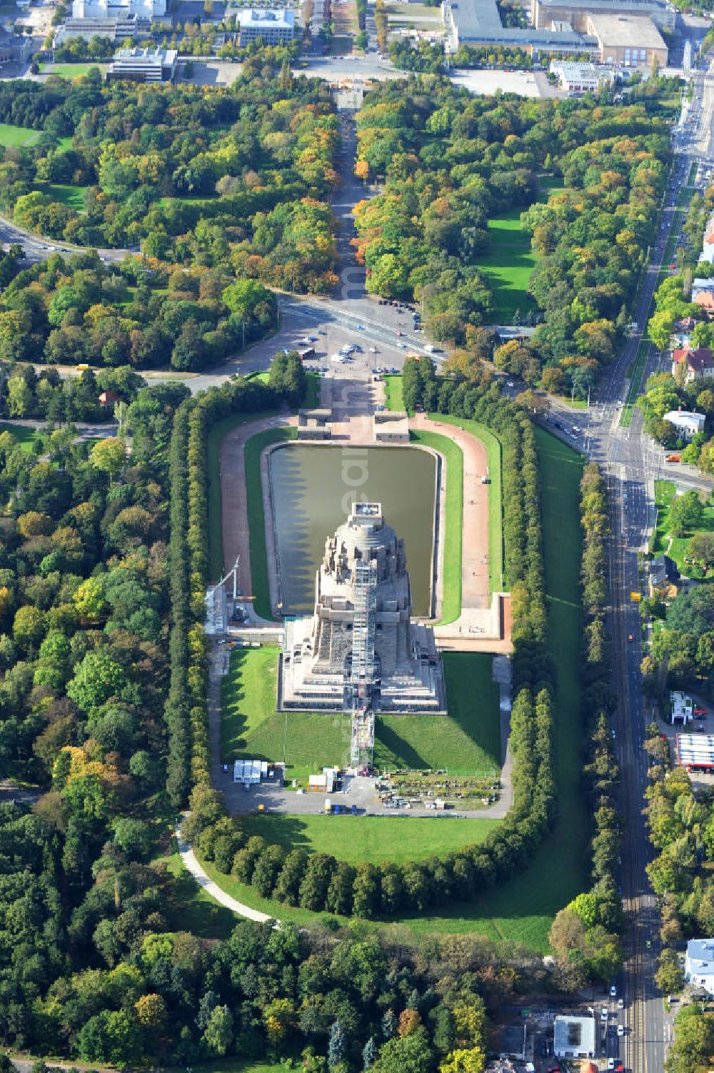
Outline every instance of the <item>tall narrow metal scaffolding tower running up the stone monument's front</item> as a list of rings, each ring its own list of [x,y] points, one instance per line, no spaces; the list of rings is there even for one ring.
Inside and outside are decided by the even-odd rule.
[[[375,750],[375,632],[377,619],[377,565],[355,563],[354,622],[348,697],[352,709],[350,761],[352,767],[371,767]]]

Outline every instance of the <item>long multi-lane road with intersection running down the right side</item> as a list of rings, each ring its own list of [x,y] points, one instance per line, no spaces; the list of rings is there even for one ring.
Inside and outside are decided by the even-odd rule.
[[[615,750],[622,769],[622,814],[624,824],[622,893],[627,927],[626,965],[622,984],[625,999],[623,1023],[625,1068],[632,1073],[661,1073],[671,1024],[665,1017],[662,997],[654,975],[659,955],[659,921],[656,898],[645,867],[651,848],[642,820],[647,784],[647,759],[642,748],[647,716],[641,694],[642,661],[639,605],[630,598],[641,590],[638,553],[646,549],[655,521],[654,481],[671,476],[680,484],[712,490],[712,481],[694,470],[666,466],[665,453],[642,428],[635,410],[628,427],[621,425],[623,401],[629,387],[628,371],[642,342],[642,333],[662,267],[667,239],[676,220],[680,189],[693,162],[708,161],[712,155],[714,122],[714,63],[706,73],[694,76],[694,95],[686,112],[685,129],[675,133],[677,157],[665,194],[661,226],[643,274],[633,320],[637,328],[601,383],[597,402],[587,411],[556,408],[560,425],[569,429],[577,421],[582,429],[580,450],[595,459],[607,474],[611,508],[609,583],[611,607],[613,677],[617,707],[613,716]],[[701,174],[701,166],[699,172]],[[646,350],[642,383],[658,368],[659,355]],[[567,432],[565,432],[568,438]],[[572,441],[571,441],[572,442]],[[621,1042],[610,1040],[610,1046]],[[610,1047],[608,1054],[611,1054]]]

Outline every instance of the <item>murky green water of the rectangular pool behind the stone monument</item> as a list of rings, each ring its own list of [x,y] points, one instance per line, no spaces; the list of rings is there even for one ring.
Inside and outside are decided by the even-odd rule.
[[[382,504],[404,538],[412,614],[427,615],[436,459],[417,447],[286,444],[271,455],[275,527],[289,615],[311,614],[324,543],[347,518],[350,497]]]

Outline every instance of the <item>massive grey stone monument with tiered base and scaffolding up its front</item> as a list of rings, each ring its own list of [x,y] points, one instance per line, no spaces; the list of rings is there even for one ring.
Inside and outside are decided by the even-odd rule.
[[[434,633],[411,621],[404,541],[380,503],[355,503],[327,538],[315,613],[286,622],[278,703],[351,711],[355,766],[370,763],[375,711],[443,710]]]

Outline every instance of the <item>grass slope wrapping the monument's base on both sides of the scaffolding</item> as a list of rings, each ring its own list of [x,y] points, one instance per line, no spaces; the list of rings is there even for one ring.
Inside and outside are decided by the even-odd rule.
[[[221,759],[285,759],[291,779],[349,754],[348,716],[276,711],[276,648],[234,648],[221,684]],[[447,653],[448,716],[378,716],[375,764],[389,768],[447,768],[452,775],[491,775],[500,766],[498,688],[491,658]],[[475,703],[476,699],[476,703]]]

